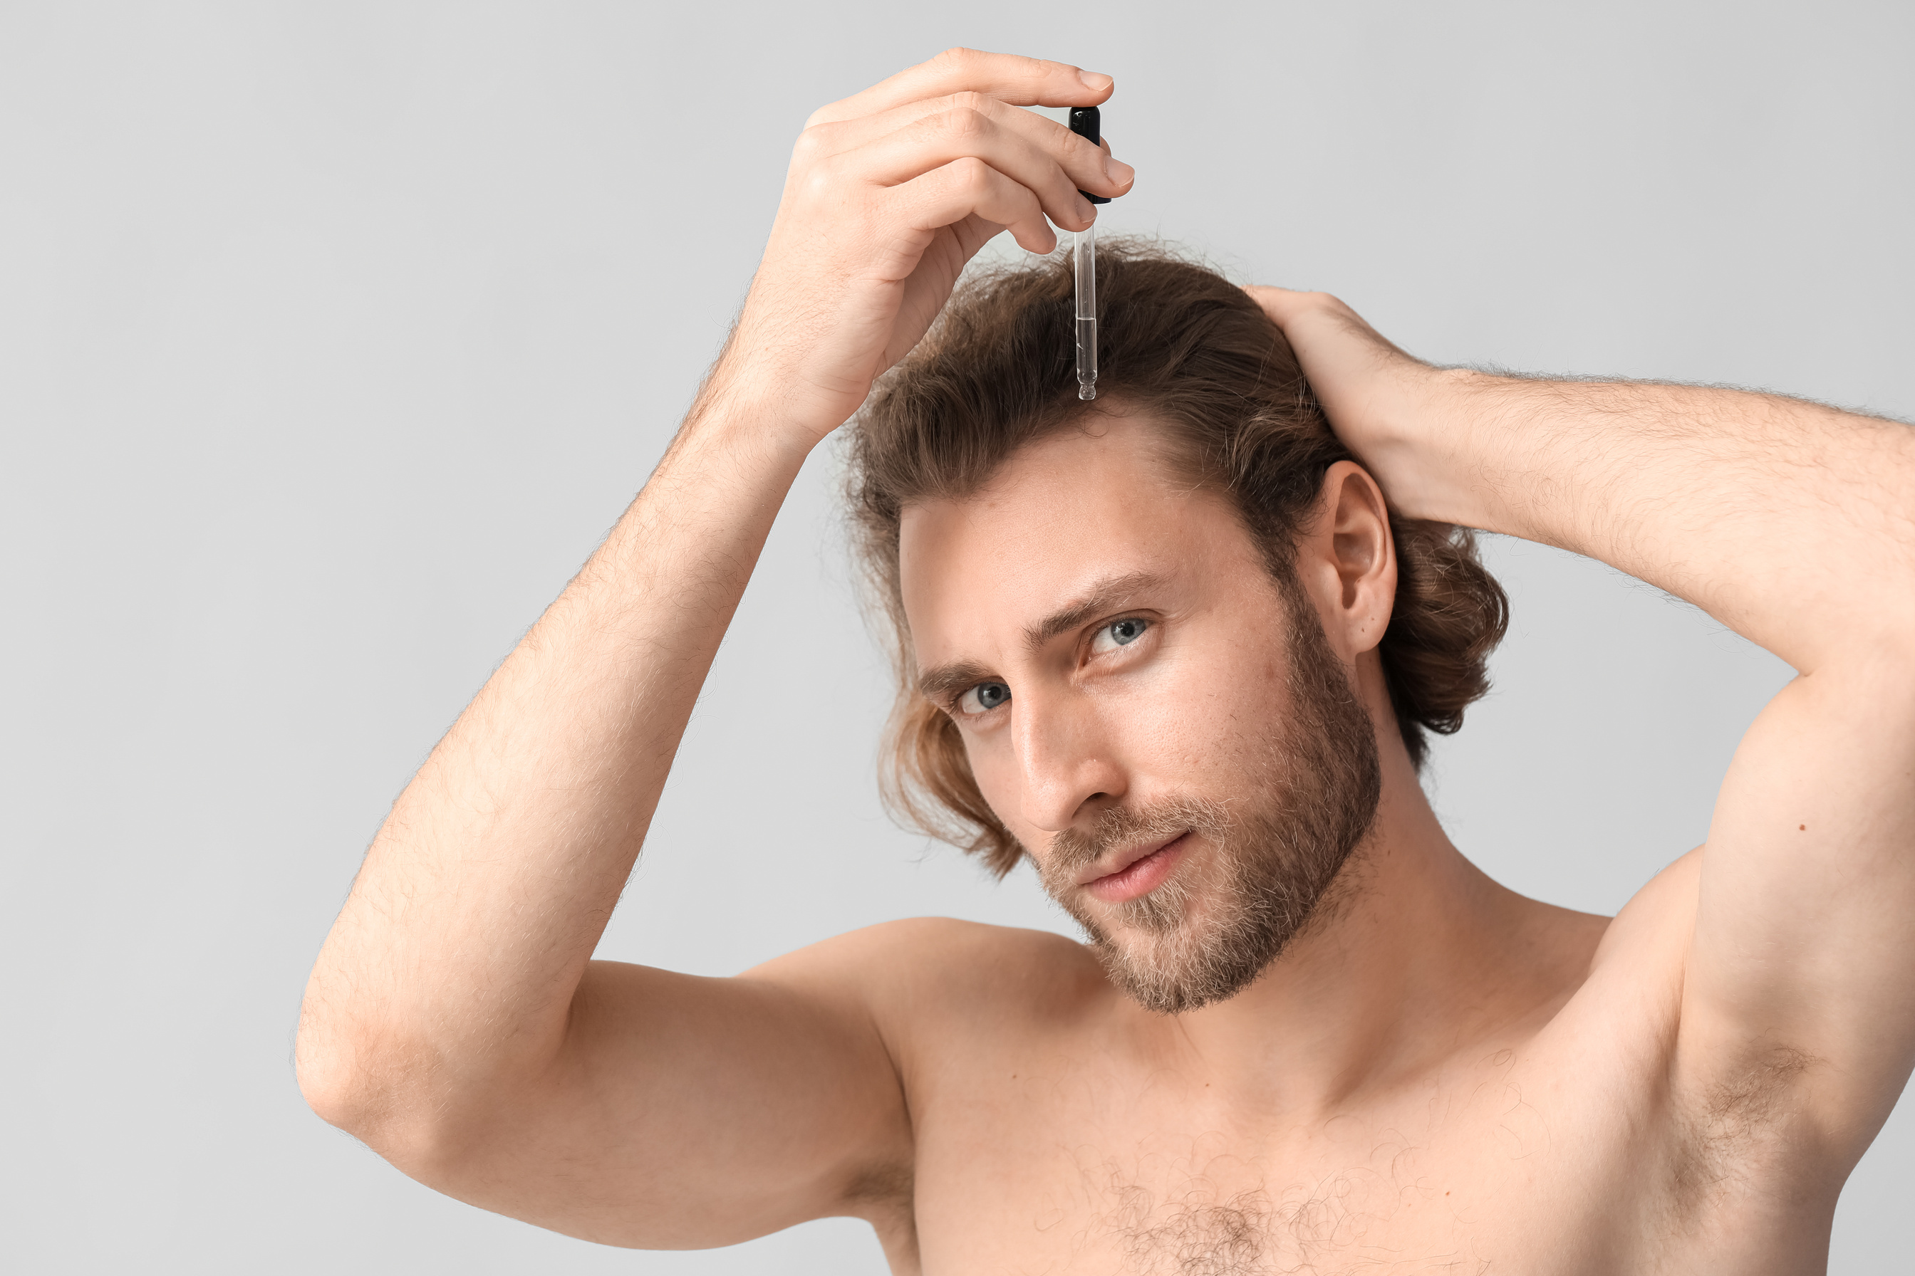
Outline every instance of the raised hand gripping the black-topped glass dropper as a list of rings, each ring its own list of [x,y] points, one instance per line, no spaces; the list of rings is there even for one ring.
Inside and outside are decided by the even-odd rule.
[[[1009,230],[1049,253],[1120,195],[1130,165],[1021,105],[1080,107],[1111,77],[950,50],[820,109],[714,381],[776,404],[804,446],[843,425],[950,298],[965,262]]]

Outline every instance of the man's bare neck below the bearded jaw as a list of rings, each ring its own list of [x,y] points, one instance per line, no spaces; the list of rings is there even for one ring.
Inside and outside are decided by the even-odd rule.
[[[1379,752],[1377,819],[1321,914],[1256,983],[1174,1020],[1224,1094],[1333,1110],[1549,1008],[1588,968],[1603,918],[1524,899],[1469,863],[1386,714]]]

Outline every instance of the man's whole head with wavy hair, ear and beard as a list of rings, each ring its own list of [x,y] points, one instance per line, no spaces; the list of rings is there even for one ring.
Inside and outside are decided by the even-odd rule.
[[[1503,597],[1385,511],[1245,293],[1101,256],[1101,398],[1067,270],[979,279],[854,427],[852,507],[898,639],[892,798],[998,872],[1028,851],[1113,976],[1185,1010],[1312,918],[1379,731],[1421,761],[1459,725]]]

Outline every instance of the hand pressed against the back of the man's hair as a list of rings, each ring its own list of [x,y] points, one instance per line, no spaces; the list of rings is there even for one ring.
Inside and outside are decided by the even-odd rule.
[[[1448,505],[1438,490],[1448,484],[1423,440],[1450,415],[1455,373],[1404,354],[1329,293],[1258,285],[1245,293],[1289,339],[1331,429],[1383,486],[1390,509],[1438,518],[1436,507]]]

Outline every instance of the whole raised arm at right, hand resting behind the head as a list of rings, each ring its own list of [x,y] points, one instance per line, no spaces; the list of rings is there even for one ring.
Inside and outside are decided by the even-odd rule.
[[[1601,559],[1796,668],[1716,802],[1672,1081],[1846,1171],[1915,1066],[1915,430],[1432,369],[1335,298],[1252,293],[1398,511]]]

